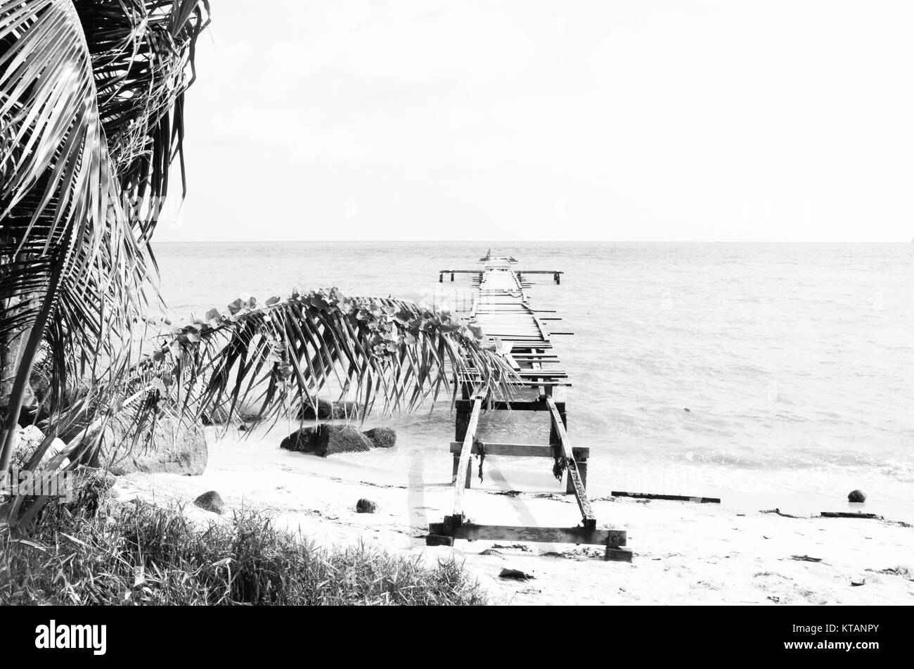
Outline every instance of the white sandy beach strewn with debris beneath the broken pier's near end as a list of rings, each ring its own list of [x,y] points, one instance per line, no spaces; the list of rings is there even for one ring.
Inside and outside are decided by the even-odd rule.
[[[119,493],[124,499],[136,495],[157,503],[190,503],[198,494],[216,490],[230,507],[270,510],[277,524],[300,529],[324,545],[361,540],[429,559],[454,553],[465,558],[500,603],[914,604],[914,528],[899,522],[911,520],[901,517],[903,508],[883,510],[868,502],[863,510],[884,513],[886,520],[830,519],[815,516],[846,511],[847,503],[745,495],[736,495],[736,502],[725,498],[724,504],[645,503],[597,496],[593,508],[599,525],[628,530],[632,564],[604,562],[600,547],[567,544],[501,547],[501,555],[481,556],[485,548],[510,542],[425,546],[428,524],[441,522],[452,505],[447,480],[451,456],[443,447],[438,458],[416,457],[409,471],[401,472],[384,468],[383,451],[322,459],[282,451],[281,437],[222,439],[211,448],[202,476],[132,474],[119,479]],[[529,491],[524,494],[496,494],[515,483],[505,480],[498,464],[494,457],[487,459],[486,481],[467,492],[467,515],[473,522],[578,524],[573,497],[560,494],[564,484],[543,485],[537,479],[538,488],[517,484]],[[600,466],[600,459],[591,458],[590,466]],[[379,513],[356,514],[360,497],[380,504]],[[808,517],[759,513],[776,506]],[[187,513],[218,519],[192,504]],[[792,559],[803,555],[822,561]],[[502,568],[536,578],[500,579]]]

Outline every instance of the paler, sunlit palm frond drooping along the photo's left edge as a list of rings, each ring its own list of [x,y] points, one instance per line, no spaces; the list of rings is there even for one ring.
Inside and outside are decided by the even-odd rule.
[[[116,180],[72,3],[2,0],[0,39],[0,334],[30,330],[9,400],[2,473],[61,286],[96,266],[105,230],[122,224],[122,212],[111,199]]]

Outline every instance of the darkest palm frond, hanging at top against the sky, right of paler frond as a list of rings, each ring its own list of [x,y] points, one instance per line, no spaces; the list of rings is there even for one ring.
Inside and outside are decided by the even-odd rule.
[[[184,175],[184,94],[196,77],[197,37],[207,0],[75,0],[86,27],[101,125],[124,206],[144,239],[152,234],[175,157]]]

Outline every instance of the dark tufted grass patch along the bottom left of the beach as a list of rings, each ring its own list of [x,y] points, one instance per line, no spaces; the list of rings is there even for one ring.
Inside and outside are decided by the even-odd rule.
[[[108,504],[104,494],[96,486],[74,504],[49,504],[27,538],[4,531],[0,603],[487,603],[453,558],[429,566],[365,545],[315,547],[258,511],[202,525],[176,505]]]

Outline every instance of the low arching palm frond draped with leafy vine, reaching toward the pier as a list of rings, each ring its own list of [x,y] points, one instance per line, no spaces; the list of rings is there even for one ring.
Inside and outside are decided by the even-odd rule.
[[[334,388],[364,418],[408,413],[450,395],[473,370],[477,392],[511,396],[515,372],[450,313],[335,288],[251,298],[177,329],[143,370],[143,383],[199,415],[242,407],[259,419],[299,415]],[[161,379],[161,385],[152,379]]]

